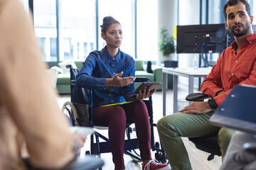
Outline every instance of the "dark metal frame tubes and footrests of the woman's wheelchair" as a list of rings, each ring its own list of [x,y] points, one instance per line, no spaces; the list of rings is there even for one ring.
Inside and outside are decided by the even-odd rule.
[[[80,69],[73,69],[73,67],[71,65],[67,65],[66,66],[68,69],[70,69],[70,93],[71,93],[71,103],[75,103],[75,75],[74,75],[74,70],[79,71]],[[137,78],[137,82],[142,82],[143,80],[149,81],[148,77],[143,77],[143,78]],[[138,81],[139,80],[139,81]],[[84,88],[80,88],[80,89],[84,89]],[[90,105],[91,108],[91,115],[90,115],[90,127],[95,128],[95,125],[93,123],[93,92],[92,90],[87,90],[87,94],[89,93],[89,101],[87,101],[86,103]],[[89,91],[89,92],[88,92]],[[148,108],[148,112],[149,112],[149,123],[150,123],[150,130],[151,130],[151,149],[152,151],[156,151],[155,153],[155,159],[158,160],[159,162],[162,163],[166,163],[166,155],[164,153],[164,149],[162,149],[162,147],[160,148],[160,144],[159,142],[154,141],[154,127],[156,127],[156,123],[154,123],[153,120],[153,108],[152,108],[152,99],[151,96],[149,97],[149,100],[144,100],[144,103],[146,104],[147,108]],[[65,107],[65,106],[63,106]],[[73,108],[74,109],[74,108]],[[73,125],[78,125],[78,115],[77,113],[74,113],[74,111],[68,111],[68,113],[70,114],[70,119],[73,122]],[[76,117],[76,118],[75,118]],[[134,149],[139,149],[139,144],[136,139],[131,139],[130,136],[130,132],[131,129],[129,129],[129,125],[131,125],[132,123],[129,123],[127,125],[127,129],[126,129],[126,134],[127,134],[127,140],[124,141],[124,154],[129,155],[132,159],[134,159],[134,161],[137,162],[141,162],[142,159],[139,157],[139,154],[137,154],[135,152],[132,153],[132,151],[134,151]],[[95,140],[94,140],[95,137]],[[99,139],[105,140],[105,142],[100,142]],[[90,154],[96,154],[98,157],[100,157],[101,153],[108,153],[111,152],[110,151],[110,146],[109,146],[109,139],[107,137],[105,137],[104,135],[100,134],[99,132],[95,132],[94,134],[91,135],[90,137]]]

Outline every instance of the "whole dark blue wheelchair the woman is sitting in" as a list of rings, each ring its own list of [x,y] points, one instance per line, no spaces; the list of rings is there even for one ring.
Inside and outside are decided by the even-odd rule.
[[[87,126],[95,128],[95,133],[90,137],[90,151],[86,154],[95,154],[100,157],[102,153],[110,151],[109,140],[104,135],[97,132],[97,130],[107,129],[102,125],[95,125],[93,121],[93,91],[90,89],[80,88],[75,85],[75,79],[80,69],[73,69],[71,65],[66,66],[70,69],[70,91],[71,102],[66,102],[63,105],[63,111],[66,113],[72,122],[73,126]],[[149,81],[148,77],[137,77],[136,82]],[[166,162],[164,149],[162,149],[159,142],[154,141],[154,127],[156,123],[153,121],[153,108],[151,96],[149,100],[143,100],[149,112],[149,123],[151,130],[151,149],[155,151],[155,159],[161,163]],[[134,123],[127,122],[126,125],[126,140],[124,141],[124,154],[129,155],[135,162],[142,162],[136,149],[139,149],[137,138],[134,137],[135,128],[132,127]],[[101,139],[101,141],[100,141]]]

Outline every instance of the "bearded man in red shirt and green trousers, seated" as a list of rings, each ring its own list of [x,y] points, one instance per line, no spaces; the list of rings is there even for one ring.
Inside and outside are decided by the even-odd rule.
[[[222,157],[235,132],[217,128],[208,122],[216,108],[238,84],[256,86],[256,34],[252,31],[253,16],[245,0],[229,0],[223,8],[225,26],[235,37],[213,66],[201,85],[208,101],[194,102],[179,113],[161,118],[157,123],[159,137],[171,164],[171,169],[191,169],[188,153],[181,137],[201,137],[218,133]]]

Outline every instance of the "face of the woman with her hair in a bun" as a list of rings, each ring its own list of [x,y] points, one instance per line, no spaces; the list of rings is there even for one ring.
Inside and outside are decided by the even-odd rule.
[[[102,33],[102,38],[107,42],[108,47],[118,48],[122,45],[122,27],[119,23],[113,23],[105,33]]]

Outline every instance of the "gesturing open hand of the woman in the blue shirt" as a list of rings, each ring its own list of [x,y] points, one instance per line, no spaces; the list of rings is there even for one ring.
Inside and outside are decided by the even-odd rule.
[[[128,86],[135,80],[135,77],[120,78],[122,74],[123,72],[120,72],[118,74],[114,74],[114,77],[106,79],[105,86]]]

